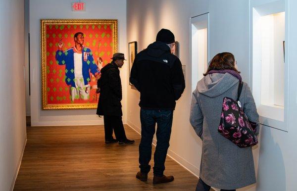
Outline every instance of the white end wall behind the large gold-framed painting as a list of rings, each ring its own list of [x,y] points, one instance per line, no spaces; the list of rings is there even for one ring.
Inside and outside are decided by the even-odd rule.
[[[44,125],[91,125],[103,124],[96,109],[42,110],[41,106],[41,56],[40,19],[117,19],[118,51],[126,53],[126,0],[84,0],[86,11],[73,12],[74,0],[30,0],[30,79],[31,79],[31,123]],[[123,82],[127,80],[127,66],[120,69]],[[123,84],[123,95],[126,86]],[[122,100],[126,108],[125,99]],[[126,113],[123,112],[123,121]]]

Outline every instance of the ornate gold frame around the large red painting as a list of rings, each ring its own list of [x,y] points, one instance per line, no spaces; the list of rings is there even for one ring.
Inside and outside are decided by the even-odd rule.
[[[112,25],[112,54],[117,52],[117,20],[105,19],[41,19],[41,94],[42,94],[42,109],[96,109],[97,103],[70,103],[70,104],[48,104],[47,100],[47,25]]]

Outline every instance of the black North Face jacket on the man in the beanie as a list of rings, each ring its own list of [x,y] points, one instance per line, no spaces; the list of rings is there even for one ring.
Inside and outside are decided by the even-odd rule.
[[[154,42],[134,60],[130,82],[140,92],[140,107],[174,110],[185,89],[182,64],[162,42]]]

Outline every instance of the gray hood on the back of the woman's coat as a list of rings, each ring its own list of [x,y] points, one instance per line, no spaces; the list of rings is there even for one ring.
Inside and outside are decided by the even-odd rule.
[[[197,83],[197,90],[204,96],[217,97],[227,92],[238,82],[239,80],[229,73],[208,74]]]

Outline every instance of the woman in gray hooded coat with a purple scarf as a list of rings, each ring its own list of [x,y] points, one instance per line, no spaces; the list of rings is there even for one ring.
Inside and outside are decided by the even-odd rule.
[[[209,191],[210,186],[235,191],[256,182],[251,147],[240,148],[218,132],[223,98],[236,100],[242,80],[239,73],[232,53],[218,53],[193,92],[190,122],[202,140],[196,191]],[[246,83],[239,100],[248,119],[258,123],[254,99]],[[256,135],[258,132],[259,128]]]

